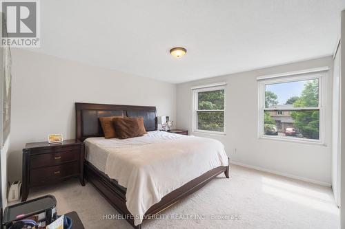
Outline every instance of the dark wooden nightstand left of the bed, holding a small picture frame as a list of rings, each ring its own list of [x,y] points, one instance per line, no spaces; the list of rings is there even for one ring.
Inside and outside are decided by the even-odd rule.
[[[21,201],[26,201],[35,186],[55,184],[68,177],[79,177],[82,186],[84,145],[79,140],[61,143],[34,142],[23,149],[23,184]]]

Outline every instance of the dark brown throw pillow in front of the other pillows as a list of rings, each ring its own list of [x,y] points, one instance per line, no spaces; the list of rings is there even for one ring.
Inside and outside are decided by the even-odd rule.
[[[144,118],[114,118],[114,127],[120,139],[135,138],[146,133]]]

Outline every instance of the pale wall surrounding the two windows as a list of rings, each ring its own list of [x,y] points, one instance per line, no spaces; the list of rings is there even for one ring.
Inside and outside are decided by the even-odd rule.
[[[231,63],[228,63],[229,65]],[[324,145],[257,138],[257,76],[328,66]],[[223,142],[230,160],[323,184],[331,183],[332,56],[177,85],[177,127]],[[193,133],[191,87],[227,82],[226,135]]]

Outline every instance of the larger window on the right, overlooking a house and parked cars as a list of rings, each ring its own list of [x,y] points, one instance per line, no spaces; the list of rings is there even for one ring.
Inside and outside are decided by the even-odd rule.
[[[259,137],[322,142],[324,76],[259,78]]]

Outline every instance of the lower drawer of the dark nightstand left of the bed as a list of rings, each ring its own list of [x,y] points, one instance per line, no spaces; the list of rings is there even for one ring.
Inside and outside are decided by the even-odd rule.
[[[52,182],[63,177],[79,174],[79,162],[70,162],[58,166],[34,168],[30,171],[30,184],[32,186]]]

